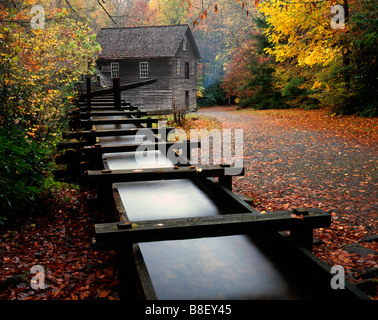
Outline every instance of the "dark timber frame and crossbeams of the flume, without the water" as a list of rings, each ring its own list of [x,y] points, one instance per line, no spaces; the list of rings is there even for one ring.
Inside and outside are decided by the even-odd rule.
[[[118,251],[122,298],[157,298],[138,247],[138,243],[150,241],[238,234],[247,234],[253,237],[253,234],[261,235],[264,233],[270,241],[276,241],[275,243],[279,243],[280,246],[283,245],[288,255],[291,254],[289,252],[296,252],[296,255],[303,260],[305,265],[309,263],[308,265],[313,270],[316,270],[319,275],[321,274],[319,277],[322,281],[324,279],[329,281],[331,276],[329,267],[317,259],[311,253],[311,250],[313,229],[329,227],[331,215],[321,209],[298,209],[261,214],[232,192],[232,176],[243,175],[244,168],[232,168],[225,165],[192,165],[190,163],[190,149],[198,148],[198,142],[183,141],[177,143],[167,141],[167,132],[174,131],[174,128],[153,127],[153,124],[158,122],[157,118],[142,119],[141,117],[145,116],[143,112],[135,110],[121,100],[120,93],[122,90],[145,85],[151,83],[151,81],[121,86],[119,79],[116,78],[113,88],[97,92],[91,92],[90,81],[88,81],[87,92],[79,98],[79,101],[81,101],[79,112],[72,114],[72,116],[77,117],[75,126],[72,127],[74,130],[63,133],[63,137],[71,139],[71,141],[58,145],[58,149],[65,150],[65,154],[58,158],[57,162],[67,164],[67,170],[65,172],[60,171],[57,175],[85,178],[88,184],[98,189],[98,198],[101,201],[99,207],[104,211],[109,222],[95,225],[96,235],[92,245],[96,250],[115,249]],[[106,94],[110,96],[103,99],[99,98]],[[114,116],[122,116],[122,119],[111,118]],[[135,127],[114,130],[98,130],[96,128],[96,125],[123,124],[132,124]],[[159,135],[162,130],[164,135]],[[149,136],[154,137],[152,142],[115,146],[101,146],[98,143],[98,139],[101,137],[133,136],[147,132]],[[176,161],[173,163],[173,167],[111,170],[107,166],[106,159],[104,159],[104,154],[126,154],[141,147],[154,150],[165,148],[167,150],[175,144],[177,148],[181,147],[186,149],[187,152],[181,156],[168,152],[165,154],[168,158],[171,157],[172,161]],[[226,168],[227,170],[225,170]],[[214,178],[218,178],[218,180]],[[167,179],[190,179],[194,181],[224,208],[224,213],[218,216],[130,221],[115,183]],[[284,234],[281,233],[283,231],[290,231],[290,236],[287,237],[287,233],[283,236]],[[289,239],[289,244],[286,244],[286,238]],[[143,290],[140,291],[140,288]],[[327,294],[332,295],[333,293],[328,292]],[[338,293],[334,294],[337,295]],[[342,292],[340,296],[350,299],[366,298],[349,283],[347,290]]]

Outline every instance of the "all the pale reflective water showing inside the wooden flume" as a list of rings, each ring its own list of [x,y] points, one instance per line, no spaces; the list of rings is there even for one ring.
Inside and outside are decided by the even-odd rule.
[[[109,126],[107,126],[109,127]],[[113,127],[114,128],[114,127]],[[132,141],[101,139],[101,144]],[[156,151],[158,152],[158,151]],[[109,169],[172,167],[138,162],[135,153],[105,154]],[[132,222],[221,213],[191,180],[116,184]],[[295,293],[279,269],[244,235],[139,244],[158,299],[290,299]]]

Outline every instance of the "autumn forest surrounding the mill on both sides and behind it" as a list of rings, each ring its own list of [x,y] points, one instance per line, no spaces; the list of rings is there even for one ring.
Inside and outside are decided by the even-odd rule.
[[[0,225],[38,210],[74,83],[95,70],[102,27],[189,24],[201,52],[199,106],[327,108],[377,115],[378,4],[335,1],[0,1]],[[44,8],[43,28],[32,28]],[[37,25],[41,20],[37,20]],[[41,25],[40,25],[41,26]]]

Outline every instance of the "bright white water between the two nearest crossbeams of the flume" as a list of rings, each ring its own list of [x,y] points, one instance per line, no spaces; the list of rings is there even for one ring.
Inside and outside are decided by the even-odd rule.
[[[191,180],[117,183],[130,221],[219,214],[209,196]]]

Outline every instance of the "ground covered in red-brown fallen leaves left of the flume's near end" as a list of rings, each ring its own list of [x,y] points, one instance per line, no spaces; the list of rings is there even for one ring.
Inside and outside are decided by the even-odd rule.
[[[91,248],[101,219],[90,214],[91,196],[67,188],[46,195],[39,217],[0,233],[0,300],[119,299],[115,253]],[[46,289],[31,288],[34,265],[44,268]]]

